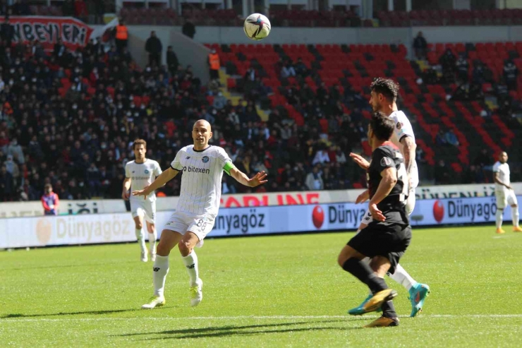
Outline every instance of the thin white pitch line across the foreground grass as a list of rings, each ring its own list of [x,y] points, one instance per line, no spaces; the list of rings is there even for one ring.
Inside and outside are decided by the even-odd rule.
[[[400,316],[409,318],[409,316]],[[350,316],[219,316],[219,317],[149,317],[149,318],[4,318],[1,322],[38,322],[38,321],[111,321],[111,320],[245,320],[245,319],[346,319]],[[370,318],[370,316],[368,316]],[[421,314],[418,318],[522,318],[522,314]],[[358,319],[360,320],[360,319]]]

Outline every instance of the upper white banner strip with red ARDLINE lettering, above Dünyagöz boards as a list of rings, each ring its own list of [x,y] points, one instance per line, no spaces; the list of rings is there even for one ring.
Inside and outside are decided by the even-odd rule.
[[[511,184],[522,195],[522,183]],[[281,205],[307,205],[355,202],[360,189],[336,191],[293,191],[277,193],[245,193],[221,196],[221,208],[244,208]],[[421,186],[416,189],[417,200],[437,198],[468,198],[494,196],[494,184]],[[178,197],[157,199],[157,211],[173,211]],[[59,215],[107,214],[126,212],[121,199],[60,200]],[[0,203],[0,219],[44,215],[40,201]]]

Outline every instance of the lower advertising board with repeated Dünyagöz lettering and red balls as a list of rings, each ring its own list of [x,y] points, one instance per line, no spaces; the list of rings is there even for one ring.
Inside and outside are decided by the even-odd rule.
[[[522,196],[518,196],[522,199]],[[330,203],[312,205],[221,208],[208,235],[243,236],[293,232],[355,231],[367,205]],[[411,225],[433,226],[494,222],[495,198],[448,198],[419,200]],[[157,212],[162,231],[172,212]],[[511,221],[511,207],[504,222]],[[0,220],[0,248],[23,248],[70,244],[99,244],[135,241],[134,222],[129,213],[15,217]]]

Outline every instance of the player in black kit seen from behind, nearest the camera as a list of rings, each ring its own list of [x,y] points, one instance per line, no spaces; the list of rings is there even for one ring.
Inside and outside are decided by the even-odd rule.
[[[368,190],[358,201],[370,199],[368,208],[373,221],[353,236],[339,254],[339,265],[368,285],[372,298],[363,306],[368,313],[382,309],[382,316],[366,327],[396,326],[399,318],[391,299],[397,293],[384,282],[387,272],[394,272],[411,240],[411,228],[405,205],[408,197],[408,175],[403,155],[389,140],[394,121],[381,112],[372,115],[368,140],[372,161],[368,168]],[[372,258],[370,265],[362,262]]]

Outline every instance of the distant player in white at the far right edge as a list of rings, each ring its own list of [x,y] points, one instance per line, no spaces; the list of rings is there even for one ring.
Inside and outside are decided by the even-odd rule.
[[[497,197],[497,233],[504,233],[502,229],[502,215],[506,205],[511,205],[511,218],[513,219],[513,231],[522,232],[518,226],[518,202],[515,191],[511,188],[509,180],[509,164],[507,164],[507,153],[500,152],[499,160],[493,165],[494,174],[494,196]]]

